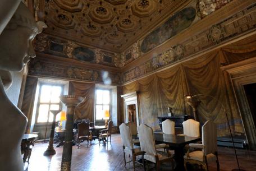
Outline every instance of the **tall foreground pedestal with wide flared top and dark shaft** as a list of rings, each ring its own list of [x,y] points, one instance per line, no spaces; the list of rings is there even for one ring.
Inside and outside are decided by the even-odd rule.
[[[71,168],[74,110],[76,105],[81,103],[83,99],[84,98],[75,95],[61,96],[62,103],[67,107],[67,121],[61,160],[61,171],[70,171]]]

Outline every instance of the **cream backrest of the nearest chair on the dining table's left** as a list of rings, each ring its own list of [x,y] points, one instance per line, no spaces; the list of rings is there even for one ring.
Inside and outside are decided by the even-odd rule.
[[[154,141],[153,130],[147,124],[140,124],[138,127],[141,151],[147,155],[157,155],[156,144]]]

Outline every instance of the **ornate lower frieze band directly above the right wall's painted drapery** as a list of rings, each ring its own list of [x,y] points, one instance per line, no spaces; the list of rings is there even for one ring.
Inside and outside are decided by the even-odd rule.
[[[134,80],[254,29],[256,29],[256,3],[198,35],[157,54],[140,66],[131,68],[124,73],[123,82]]]

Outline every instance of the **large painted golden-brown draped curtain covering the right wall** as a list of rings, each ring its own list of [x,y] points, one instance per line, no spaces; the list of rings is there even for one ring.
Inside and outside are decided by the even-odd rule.
[[[218,136],[229,135],[225,108],[232,130],[237,135],[243,134],[238,111],[231,107],[235,105],[230,103],[234,96],[227,93],[230,85],[226,85],[219,56],[220,53],[214,51],[124,85],[124,94],[139,91],[141,123],[159,129],[157,117],[166,115],[168,107],[172,107],[176,115],[192,114],[184,95],[203,94],[208,96],[198,96],[202,101],[198,107],[200,123],[212,120],[218,125]]]

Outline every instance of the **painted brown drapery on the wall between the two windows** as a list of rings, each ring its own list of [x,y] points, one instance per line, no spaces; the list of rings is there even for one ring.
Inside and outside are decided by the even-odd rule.
[[[86,97],[85,101],[75,108],[75,118],[94,121],[95,84],[70,81],[68,94]]]

